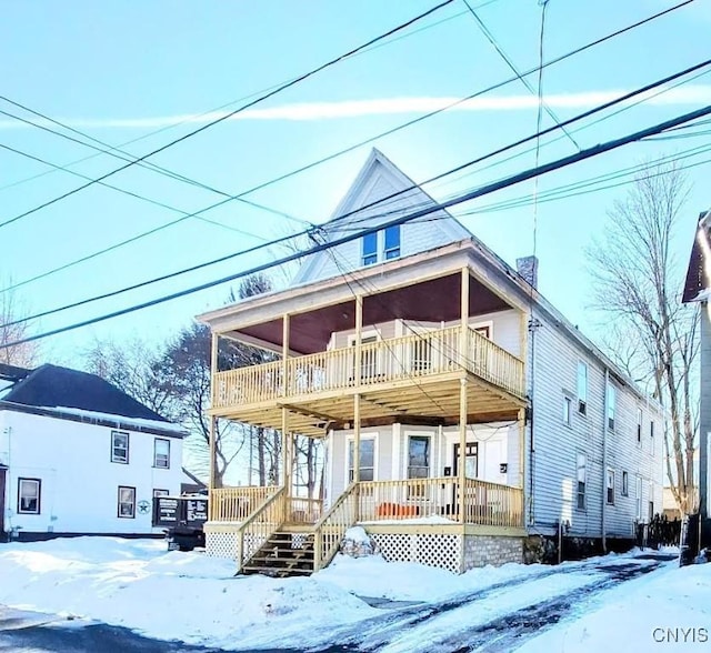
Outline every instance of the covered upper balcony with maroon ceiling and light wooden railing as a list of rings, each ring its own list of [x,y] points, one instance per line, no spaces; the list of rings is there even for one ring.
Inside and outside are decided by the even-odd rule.
[[[287,409],[291,431],[323,435],[350,428],[358,394],[363,425],[458,423],[467,380],[471,421],[515,419],[527,308],[477,255],[464,241],[203,315],[216,336],[274,354],[216,371],[211,414],[281,429]],[[213,340],[213,370],[218,359]]]

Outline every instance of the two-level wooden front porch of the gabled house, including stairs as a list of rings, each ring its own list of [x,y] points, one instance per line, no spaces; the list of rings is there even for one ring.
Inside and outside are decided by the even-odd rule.
[[[525,307],[471,241],[349,277],[201,317],[212,419],[276,429],[284,452],[279,488],[211,485],[208,552],[310,573],[360,524],[389,560],[521,560]],[[223,338],[276,360],[221,370]],[[327,439],[323,502],[293,495],[294,433]]]

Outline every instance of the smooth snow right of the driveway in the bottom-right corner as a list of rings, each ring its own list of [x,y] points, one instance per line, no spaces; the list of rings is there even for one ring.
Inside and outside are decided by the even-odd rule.
[[[665,565],[594,599],[519,653],[705,651],[711,647],[711,564]]]

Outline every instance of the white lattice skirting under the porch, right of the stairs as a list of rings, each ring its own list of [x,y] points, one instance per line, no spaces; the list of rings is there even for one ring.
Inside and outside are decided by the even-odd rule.
[[[460,573],[462,536],[441,533],[370,533],[389,562],[419,562]]]

